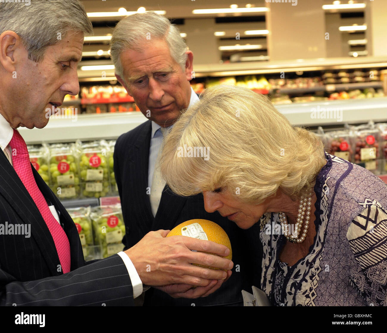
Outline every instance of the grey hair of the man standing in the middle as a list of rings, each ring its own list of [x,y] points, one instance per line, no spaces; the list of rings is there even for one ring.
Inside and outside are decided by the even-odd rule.
[[[129,15],[117,23],[110,41],[110,56],[116,74],[123,78],[120,54],[125,50],[141,51],[141,45],[149,39],[163,39],[171,56],[183,69],[187,61],[187,45],[175,25],[155,12]],[[148,37],[148,39],[147,39]],[[124,79],[124,78],[123,78]]]

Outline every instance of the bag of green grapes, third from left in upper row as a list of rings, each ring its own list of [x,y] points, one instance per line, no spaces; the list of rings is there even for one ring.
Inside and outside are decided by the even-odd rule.
[[[108,151],[100,142],[91,142],[80,145],[80,181],[82,195],[85,197],[100,198],[110,191],[110,169],[106,159]]]

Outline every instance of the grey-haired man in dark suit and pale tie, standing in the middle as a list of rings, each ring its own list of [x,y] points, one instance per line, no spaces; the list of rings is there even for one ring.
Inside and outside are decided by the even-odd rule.
[[[203,196],[183,198],[169,190],[156,166],[164,131],[181,110],[199,100],[190,87],[193,54],[176,27],[152,12],[130,15],[118,22],[111,38],[116,77],[149,120],[121,135],[114,152],[115,177],[122,202],[130,248],[151,230],[172,229],[191,219],[207,219],[228,234],[236,269],[227,283],[199,306],[243,305],[241,290],[260,281],[262,245],[259,226],[238,228],[218,213],[204,209]],[[176,175],[178,177],[178,175]],[[172,299],[159,290],[146,292],[144,306],[188,306],[189,299]]]

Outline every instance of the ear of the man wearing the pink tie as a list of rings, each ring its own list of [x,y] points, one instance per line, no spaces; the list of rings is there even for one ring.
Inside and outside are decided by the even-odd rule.
[[[0,63],[7,72],[14,72],[16,69],[17,56],[26,53],[19,35],[11,30],[0,34]]]

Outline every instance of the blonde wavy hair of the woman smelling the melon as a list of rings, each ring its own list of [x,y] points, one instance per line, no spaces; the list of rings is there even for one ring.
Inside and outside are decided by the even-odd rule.
[[[293,200],[312,188],[326,163],[313,132],[291,126],[266,96],[249,89],[217,85],[200,97],[164,139],[160,167],[171,190],[191,196],[222,188],[259,204],[278,188]],[[209,156],[181,157],[184,145],[209,147]]]

